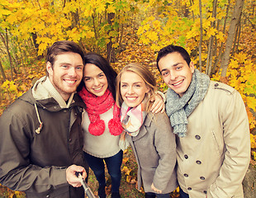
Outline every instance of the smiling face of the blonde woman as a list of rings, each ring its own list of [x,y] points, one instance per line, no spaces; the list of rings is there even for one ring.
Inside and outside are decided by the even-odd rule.
[[[120,80],[120,92],[127,106],[135,107],[144,100],[149,87],[140,76],[133,72],[124,72]]]

